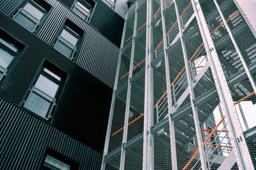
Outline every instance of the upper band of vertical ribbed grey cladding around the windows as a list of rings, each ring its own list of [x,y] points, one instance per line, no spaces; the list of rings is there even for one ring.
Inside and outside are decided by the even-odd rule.
[[[13,9],[17,9],[22,2],[22,0],[3,0],[0,2],[0,11],[12,17],[10,15]],[[109,87],[113,87],[119,48],[64,4],[56,0],[46,2],[52,6],[52,10],[37,32],[38,38],[51,45],[65,19],[74,22],[86,34],[81,43],[81,50],[76,55],[77,65]]]

